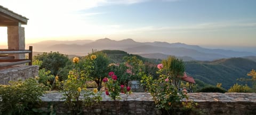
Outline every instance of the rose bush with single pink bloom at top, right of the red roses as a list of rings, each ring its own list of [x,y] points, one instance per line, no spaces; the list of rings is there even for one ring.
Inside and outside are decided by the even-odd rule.
[[[179,110],[181,107],[182,98],[187,97],[182,92],[178,92],[177,87],[172,84],[172,80],[169,76],[163,74],[163,65],[158,64],[157,71],[159,78],[153,79],[153,77],[143,76],[141,83],[146,86],[148,92],[153,96],[156,107],[161,110],[169,112],[174,112]]]

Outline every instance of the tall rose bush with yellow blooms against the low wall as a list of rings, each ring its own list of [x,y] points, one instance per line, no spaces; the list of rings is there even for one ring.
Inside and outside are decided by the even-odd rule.
[[[95,59],[96,57],[93,57]],[[93,91],[86,90],[86,81],[92,80],[89,77],[89,70],[78,71],[77,64],[79,63],[79,58],[74,57],[73,63],[75,64],[75,69],[69,71],[68,79],[65,81],[58,81],[58,77],[55,77],[56,84],[60,84],[65,96],[65,103],[68,105],[69,110],[73,114],[78,114],[83,112],[83,106],[92,105],[94,102],[99,102],[101,100],[101,92],[98,89],[93,89]],[[92,68],[90,62],[85,64],[85,68]],[[83,90],[83,91],[82,91]],[[84,95],[84,103],[82,104],[80,96]]]

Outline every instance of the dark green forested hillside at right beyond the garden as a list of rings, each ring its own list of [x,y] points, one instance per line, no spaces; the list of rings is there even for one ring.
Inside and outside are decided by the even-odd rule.
[[[249,78],[247,73],[256,69],[256,62],[243,58],[221,59],[211,62],[190,61],[186,63],[186,72],[196,79],[207,84],[216,85],[222,83],[223,88],[229,89],[238,78]],[[250,83],[248,83],[250,85]]]

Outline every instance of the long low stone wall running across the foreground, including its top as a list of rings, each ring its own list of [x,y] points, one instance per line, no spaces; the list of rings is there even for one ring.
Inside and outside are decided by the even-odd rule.
[[[189,93],[189,101],[198,103],[196,111],[202,114],[255,114],[255,93]],[[155,108],[149,93],[132,93],[128,96],[121,94],[122,100],[111,101],[110,97],[102,94],[102,101],[84,108],[84,114],[162,114]],[[50,106],[57,114],[67,114],[68,109],[59,92],[49,92],[42,97],[41,109],[49,111]],[[183,101],[186,101],[185,99]]]

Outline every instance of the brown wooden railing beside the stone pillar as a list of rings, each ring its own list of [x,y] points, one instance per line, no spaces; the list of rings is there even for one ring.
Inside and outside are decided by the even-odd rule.
[[[3,55],[3,54],[22,54],[28,53],[28,59],[14,59],[14,56]],[[8,67],[11,65],[28,63],[28,65],[32,65],[32,53],[33,46],[29,46],[29,50],[13,50],[13,49],[0,49],[0,67]],[[1,63],[7,62],[7,63]]]

